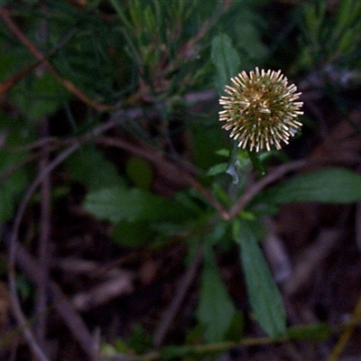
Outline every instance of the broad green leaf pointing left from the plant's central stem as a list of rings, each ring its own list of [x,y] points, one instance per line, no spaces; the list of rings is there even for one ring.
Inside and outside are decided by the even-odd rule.
[[[179,202],[153,193],[113,187],[96,190],[88,194],[84,207],[97,218],[117,222],[152,221],[157,219],[181,220],[191,218],[193,213]]]

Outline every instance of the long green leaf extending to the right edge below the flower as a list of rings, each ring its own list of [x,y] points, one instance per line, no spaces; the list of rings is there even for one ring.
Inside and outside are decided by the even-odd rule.
[[[342,168],[300,174],[264,192],[272,203],[352,203],[361,200],[361,176]]]

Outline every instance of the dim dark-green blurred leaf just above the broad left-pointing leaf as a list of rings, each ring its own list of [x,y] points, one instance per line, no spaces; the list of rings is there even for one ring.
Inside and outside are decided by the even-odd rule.
[[[71,155],[66,166],[71,178],[85,184],[90,190],[125,183],[116,171],[116,166],[93,145],[85,145],[79,152]]]

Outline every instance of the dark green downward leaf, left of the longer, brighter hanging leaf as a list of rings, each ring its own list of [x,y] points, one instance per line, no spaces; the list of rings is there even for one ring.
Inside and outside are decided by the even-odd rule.
[[[199,292],[199,321],[205,325],[204,338],[207,342],[220,342],[226,337],[235,306],[218,273],[212,248],[205,249],[204,267]]]

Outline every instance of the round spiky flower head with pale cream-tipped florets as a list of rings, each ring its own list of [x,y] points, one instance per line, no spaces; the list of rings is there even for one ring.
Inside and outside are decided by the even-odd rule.
[[[281,143],[289,143],[302,125],[296,120],[303,114],[303,103],[296,101],[301,95],[296,93],[296,86],[288,85],[281,70],[258,68],[249,74],[242,71],[231,81],[233,86],[225,89],[229,97],[219,99],[224,109],[219,120],[225,122],[222,128],[230,131],[238,146],[260,152],[281,149]]]

